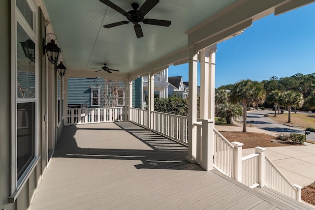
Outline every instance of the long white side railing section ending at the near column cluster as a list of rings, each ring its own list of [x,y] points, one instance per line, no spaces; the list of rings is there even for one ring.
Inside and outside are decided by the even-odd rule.
[[[152,112],[153,128],[168,138],[188,145],[188,117],[162,112]]]

